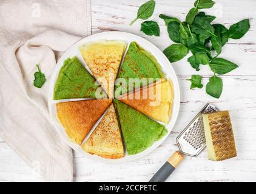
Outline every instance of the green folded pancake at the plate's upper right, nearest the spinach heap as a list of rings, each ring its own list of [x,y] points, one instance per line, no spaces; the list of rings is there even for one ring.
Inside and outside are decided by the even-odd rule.
[[[164,78],[164,75],[157,59],[136,42],[131,42],[117,78],[115,97],[130,92],[133,88],[146,85],[147,83],[145,84],[144,81],[151,83],[158,78]],[[123,78],[126,83],[124,84],[120,78]],[[137,84],[135,85],[130,81],[129,86],[130,78],[133,78],[133,81]],[[135,79],[138,79],[139,82]]]

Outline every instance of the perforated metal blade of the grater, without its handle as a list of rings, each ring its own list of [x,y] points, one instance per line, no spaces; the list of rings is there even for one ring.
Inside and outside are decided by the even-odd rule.
[[[187,127],[177,136],[176,142],[180,152],[188,156],[198,156],[206,147],[204,124],[201,113],[212,113],[218,109],[207,103]]]

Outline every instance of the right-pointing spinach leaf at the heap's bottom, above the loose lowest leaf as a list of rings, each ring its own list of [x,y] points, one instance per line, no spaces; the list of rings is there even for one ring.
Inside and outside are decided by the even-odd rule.
[[[223,59],[223,58],[212,59],[209,65],[212,71],[219,75],[223,75],[228,72],[231,72],[232,70],[238,67],[237,64],[234,64],[233,62],[227,61],[226,59]]]

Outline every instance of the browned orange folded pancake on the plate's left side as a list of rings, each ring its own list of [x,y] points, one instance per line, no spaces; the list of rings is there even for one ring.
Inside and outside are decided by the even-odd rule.
[[[111,104],[110,99],[90,99],[86,101],[59,102],[57,118],[69,138],[81,145],[93,125]]]

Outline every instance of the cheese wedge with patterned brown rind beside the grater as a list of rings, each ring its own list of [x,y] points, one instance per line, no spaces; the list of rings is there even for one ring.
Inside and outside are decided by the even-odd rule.
[[[203,114],[203,122],[209,159],[220,161],[237,156],[229,112]]]

